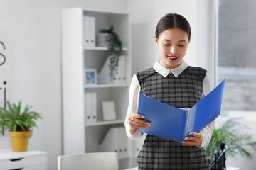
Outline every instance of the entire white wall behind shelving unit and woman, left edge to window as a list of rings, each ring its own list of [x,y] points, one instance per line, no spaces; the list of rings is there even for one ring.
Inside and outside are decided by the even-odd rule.
[[[132,26],[132,73],[152,67],[159,59],[154,43],[156,24],[166,13],[185,16],[191,23],[192,40],[186,53],[188,64],[208,69],[213,79],[213,1],[204,0],[1,0],[0,87],[7,81],[8,100],[30,103],[42,113],[28,149],[48,152],[48,169],[57,169],[62,154],[61,27],[63,8],[82,6],[109,11],[129,11]],[[1,59],[0,59],[1,61]],[[0,100],[1,102],[1,100]],[[10,146],[0,137],[0,147]],[[242,166],[247,162],[235,164]]]

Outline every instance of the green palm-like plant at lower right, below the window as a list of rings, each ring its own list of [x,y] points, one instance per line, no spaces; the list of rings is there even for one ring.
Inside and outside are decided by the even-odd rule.
[[[206,148],[206,155],[210,159],[211,152],[218,152],[220,142],[225,142],[225,155],[236,157],[238,154],[252,159],[252,153],[246,149],[251,147],[256,149],[256,142],[252,141],[252,135],[241,132],[242,128],[248,128],[238,121],[238,118],[230,118],[219,128],[213,128],[213,135]]]

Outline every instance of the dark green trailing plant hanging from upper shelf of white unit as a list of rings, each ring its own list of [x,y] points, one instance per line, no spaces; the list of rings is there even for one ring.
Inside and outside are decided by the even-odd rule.
[[[110,26],[109,29],[99,30],[100,33],[107,33],[105,42],[107,42],[107,48],[110,51],[110,81],[116,79],[117,67],[119,62],[119,57],[122,55],[122,42],[119,39],[117,33],[114,32],[114,26]]]

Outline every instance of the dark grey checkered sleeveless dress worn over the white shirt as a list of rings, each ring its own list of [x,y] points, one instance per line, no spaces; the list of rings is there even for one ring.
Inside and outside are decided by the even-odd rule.
[[[206,70],[188,66],[178,77],[153,68],[138,72],[141,93],[177,108],[191,108],[202,96]],[[156,113],[157,114],[157,113]],[[209,169],[205,149],[147,135],[137,157],[139,169]]]

